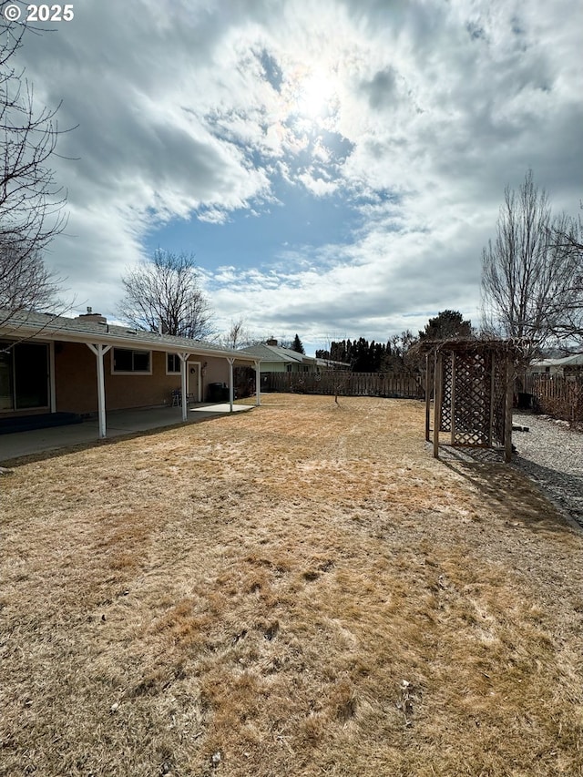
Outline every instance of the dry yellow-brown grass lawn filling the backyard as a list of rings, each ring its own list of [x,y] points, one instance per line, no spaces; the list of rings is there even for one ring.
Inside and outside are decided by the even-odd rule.
[[[6,777],[583,773],[583,535],[422,404],[271,394],[0,486]]]

